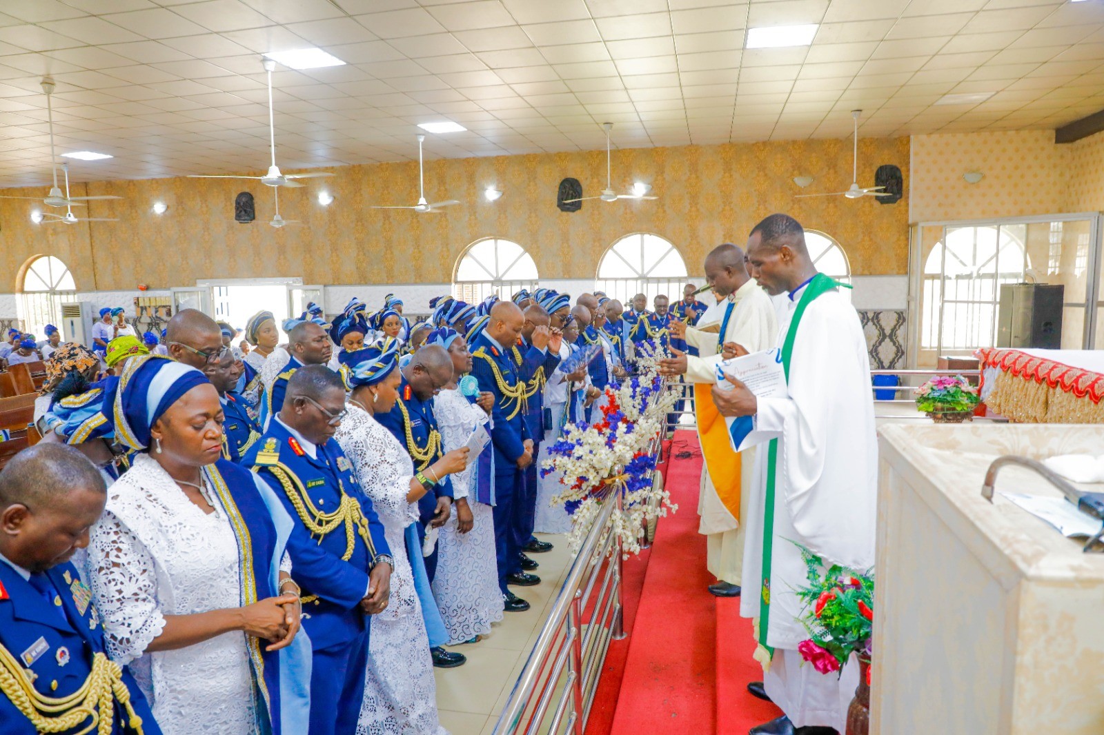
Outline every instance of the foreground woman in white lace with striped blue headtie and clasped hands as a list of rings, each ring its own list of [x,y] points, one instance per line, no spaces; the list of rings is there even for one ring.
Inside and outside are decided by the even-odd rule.
[[[144,355],[103,413],[139,452],[88,547],[113,658],[139,672],[167,735],[305,733],[310,643],[296,636],[291,520],[266,484],[221,459],[214,386]]]

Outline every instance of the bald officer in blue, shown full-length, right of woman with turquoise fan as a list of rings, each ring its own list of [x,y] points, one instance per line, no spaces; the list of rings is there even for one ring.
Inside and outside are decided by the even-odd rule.
[[[491,307],[487,326],[470,345],[471,375],[479,390],[495,396],[491,413],[495,445],[495,551],[498,558],[498,584],[508,612],[528,610],[529,603],[517,597],[507,585],[531,586],[540,582],[521,568],[521,548],[513,533],[514,503],[523,481],[522,473],[533,464],[533,439],[526,422],[528,386],[518,372],[510,352],[526,326],[526,316],[512,301]]]

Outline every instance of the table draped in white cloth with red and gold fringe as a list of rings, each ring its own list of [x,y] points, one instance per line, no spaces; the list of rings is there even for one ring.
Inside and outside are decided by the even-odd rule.
[[[985,348],[981,401],[1013,422],[1104,423],[1104,351]]]

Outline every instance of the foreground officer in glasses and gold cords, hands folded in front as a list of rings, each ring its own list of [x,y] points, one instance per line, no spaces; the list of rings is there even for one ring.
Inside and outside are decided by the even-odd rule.
[[[302,585],[302,627],[314,648],[310,735],[355,732],[368,670],[365,615],[386,607],[393,568],[372,502],[360,490],[352,462],[331,440],[344,415],[344,397],[333,371],[298,369],[279,414],[242,458],[335,569],[327,575],[320,564],[312,565],[293,532],[288,553]]]

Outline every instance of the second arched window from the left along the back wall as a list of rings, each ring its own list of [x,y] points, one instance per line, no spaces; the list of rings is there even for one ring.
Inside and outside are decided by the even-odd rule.
[[[468,247],[453,276],[453,295],[468,303],[478,303],[491,294],[509,299],[522,288],[537,288],[537,264],[521,245],[497,237]]]

